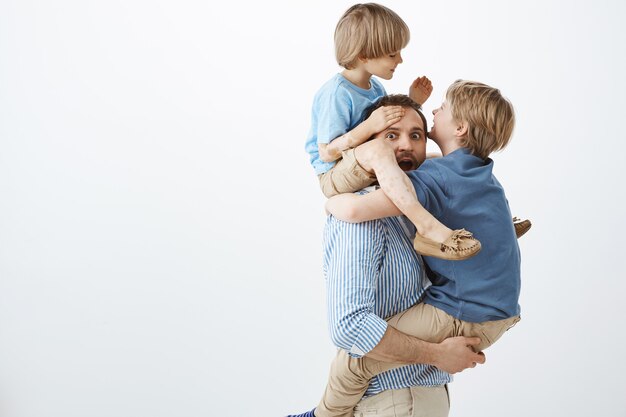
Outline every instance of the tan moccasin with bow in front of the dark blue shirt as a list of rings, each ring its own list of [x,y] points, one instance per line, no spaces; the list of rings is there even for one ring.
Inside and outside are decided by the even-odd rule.
[[[443,243],[417,234],[413,240],[413,247],[424,256],[449,261],[462,261],[480,252],[480,242],[465,229],[455,230]]]

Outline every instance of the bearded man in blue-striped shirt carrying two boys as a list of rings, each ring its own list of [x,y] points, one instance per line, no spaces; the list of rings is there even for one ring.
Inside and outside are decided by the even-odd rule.
[[[373,140],[391,146],[403,170],[416,169],[425,159],[426,120],[406,96],[387,96],[376,107],[391,105],[404,107],[404,117]],[[385,321],[416,304],[429,285],[413,249],[414,234],[404,217],[350,224],[329,216],[326,223],[324,273],[333,343],[353,357],[407,364],[374,377],[355,415],[367,409],[383,417],[447,416],[450,376],[444,371],[455,373],[485,361],[468,347],[480,343],[479,338],[428,343]],[[302,416],[332,412],[320,403]]]

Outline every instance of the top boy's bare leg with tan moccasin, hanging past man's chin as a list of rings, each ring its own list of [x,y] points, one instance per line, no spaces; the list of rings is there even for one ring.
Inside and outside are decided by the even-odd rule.
[[[480,251],[480,242],[471,233],[447,228],[420,204],[411,180],[398,166],[395,152],[387,142],[382,139],[365,142],[355,148],[355,157],[363,168],[376,175],[387,197],[415,225],[418,234],[415,249],[418,252],[461,260]]]

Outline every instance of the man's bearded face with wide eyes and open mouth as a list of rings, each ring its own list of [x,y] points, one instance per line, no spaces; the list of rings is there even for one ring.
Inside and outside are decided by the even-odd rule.
[[[426,132],[422,118],[412,108],[406,108],[404,117],[375,136],[385,139],[396,154],[403,171],[416,169],[426,158]]]

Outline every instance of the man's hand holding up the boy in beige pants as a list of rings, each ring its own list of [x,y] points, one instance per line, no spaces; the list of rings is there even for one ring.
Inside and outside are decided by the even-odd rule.
[[[471,348],[478,344],[478,337],[450,337],[437,345],[437,353],[431,364],[449,374],[455,374],[473,368],[477,363],[485,363],[485,354],[476,353]]]

